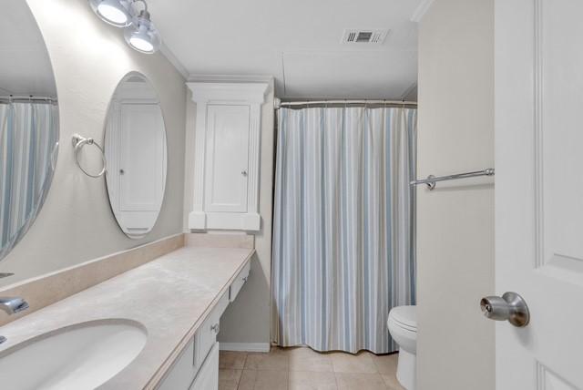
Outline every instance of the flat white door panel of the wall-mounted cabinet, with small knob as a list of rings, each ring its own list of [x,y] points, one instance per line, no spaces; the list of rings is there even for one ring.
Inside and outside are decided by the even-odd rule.
[[[205,209],[209,212],[247,211],[249,125],[249,106],[207,108]]]

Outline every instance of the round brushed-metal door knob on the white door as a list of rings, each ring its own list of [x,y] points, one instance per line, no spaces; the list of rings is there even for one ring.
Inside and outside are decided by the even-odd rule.
[[[480,301],[480,308],[486,318],[508,321],[518,328],[530,321],[527,303],[516,292],[505,292],[502,297],[486,296]]]

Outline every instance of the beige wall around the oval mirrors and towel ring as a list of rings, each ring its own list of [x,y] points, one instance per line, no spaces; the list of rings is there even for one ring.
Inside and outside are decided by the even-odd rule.
[[[27,0],[53,64],[60,113],[60,147],[53,184],[35,224],[0,262],[0,272],[20,281],[182,231],[184,179],[184,79],[162,55],[128,47],[121,29],[93,14],[87,0]],[[142,72],[157,89],[168,138],[166,195],[153,231],[130,240],[118,228],[105,180],[75,165],[71,136],[103,140],[107,105],[118,81]]]

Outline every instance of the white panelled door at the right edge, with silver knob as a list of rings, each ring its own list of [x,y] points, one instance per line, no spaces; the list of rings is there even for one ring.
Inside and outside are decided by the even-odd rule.
[[[496,389],[583,389],[583,2],[496,0]]]

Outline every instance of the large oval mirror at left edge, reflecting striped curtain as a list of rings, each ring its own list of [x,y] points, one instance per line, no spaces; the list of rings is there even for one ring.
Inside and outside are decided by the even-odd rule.
[[[58,151],[56,83],[26,1],[0,0],[0,259],[31,227]]]

